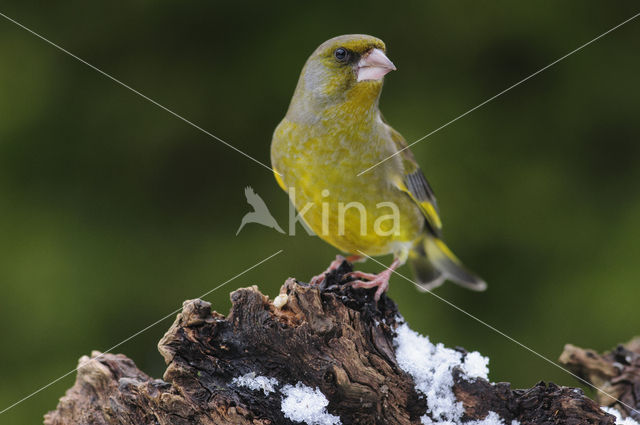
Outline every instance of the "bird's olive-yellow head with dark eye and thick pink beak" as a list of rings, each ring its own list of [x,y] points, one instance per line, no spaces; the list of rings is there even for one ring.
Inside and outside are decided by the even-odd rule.
[[[382,40],[370,35],[341,35],[322,43],[307,59],[296,95],[318,105],[374,102],[383,77],[396,69]]]

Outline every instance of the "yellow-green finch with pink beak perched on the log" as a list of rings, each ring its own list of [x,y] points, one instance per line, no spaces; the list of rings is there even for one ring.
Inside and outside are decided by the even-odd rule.
[[[393,254],[380,273],[350,273],[354,288],[376,288],[376,301],[406,262],[419,289],[450,280],[483,291],[485,281],[443,242],[433,189],[380,112],[384,76],[395,70],[376,37],[349,34],[322,43],[302,68],[273,133],[276,181],[307,226],[347,253],[347,261]],[[310,282],[321,283],[344,259],[338,255]]]

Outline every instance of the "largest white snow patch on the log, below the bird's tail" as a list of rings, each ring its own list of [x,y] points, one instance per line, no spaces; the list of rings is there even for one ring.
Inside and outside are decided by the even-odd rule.
[[[474,351],[465,356],[443,344],[432,344],[429,338],[411,330],[403,323],[394,339],[396,359],[402,370],[413,378],[416,391],[427,399],[427,412],[421,419],[424,425],[462,424],[464,408],[453,394],[453,370],[458,367],[467,380],[488,379],[489,359]],[[433,418],[433,419],[432,419]],[[495,412],[481,421],[465,422],[469,425],[505,425]],[[511,425],[518,424],[513,421]]]

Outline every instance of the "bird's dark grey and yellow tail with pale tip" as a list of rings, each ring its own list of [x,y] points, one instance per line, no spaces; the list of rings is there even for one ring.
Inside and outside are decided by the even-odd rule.
[[[467,269],[442,240],[430,234],[416,243],[409,254],[409,264],[425,291],[442,285],[447,279],[473,291],[487,289],[484,280]]]

